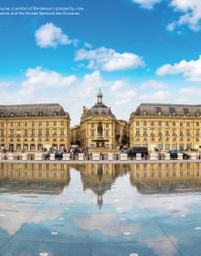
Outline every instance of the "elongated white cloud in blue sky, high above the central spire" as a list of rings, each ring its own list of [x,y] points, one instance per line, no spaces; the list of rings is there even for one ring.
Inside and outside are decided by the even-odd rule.
[[[119,53],[111,48],[79,49],[75,60],[89,60],[89,69],[106,71],[136,69],[145,66],[143,58],[131,52]]]

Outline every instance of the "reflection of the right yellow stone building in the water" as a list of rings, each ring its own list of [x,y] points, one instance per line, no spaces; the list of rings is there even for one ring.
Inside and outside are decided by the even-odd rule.
[[[144,194],[200,190],[201,163],[131,165],[131,183]]]

